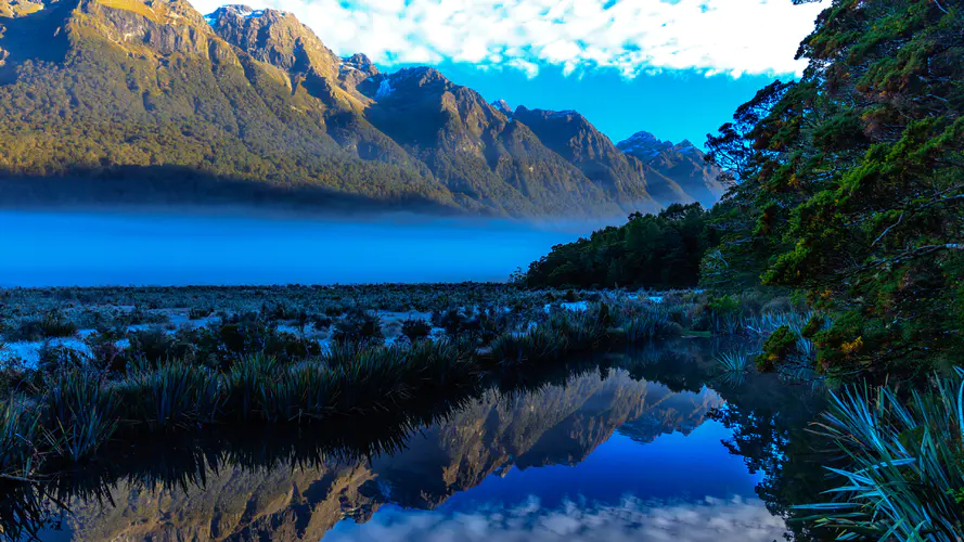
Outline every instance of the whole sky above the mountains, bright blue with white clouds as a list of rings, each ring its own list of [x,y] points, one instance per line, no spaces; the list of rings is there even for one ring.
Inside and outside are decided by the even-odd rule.
[[[224,0],[191,0],[202,13]],[[237,0],[235,0],[237,1]],[[794,59],[827,0],[247,0],[335,53],[439,67],[488,100],[576,109],[614,141],[705,136]]]

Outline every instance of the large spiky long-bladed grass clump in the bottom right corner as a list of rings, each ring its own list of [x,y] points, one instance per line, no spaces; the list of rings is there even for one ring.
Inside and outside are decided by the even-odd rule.
[[[964,382],[935,377],[910,398],[891,386],[833,393],[820,426],[847,455],[836,500],[800,506],[839,538],[960,541],[964,532]]]

